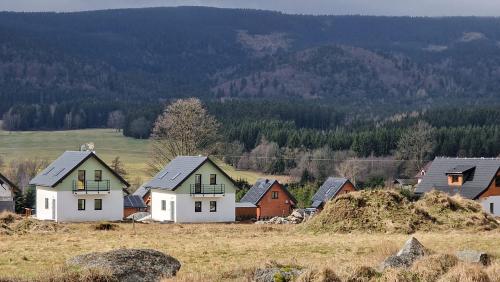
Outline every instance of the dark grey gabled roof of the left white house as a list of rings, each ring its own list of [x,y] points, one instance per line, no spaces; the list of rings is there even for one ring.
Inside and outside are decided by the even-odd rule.
[[[107,168],[120,181],[129,186],[128,182],[118,173],[112,170],[103,160],[92,151],[66,151],[59,158],[53,161],[47,168],[40,172],[30,181],[31,185],[54,187],[61,183],[69,174],[78,168],[87,159],[94,157],[105,168]]]

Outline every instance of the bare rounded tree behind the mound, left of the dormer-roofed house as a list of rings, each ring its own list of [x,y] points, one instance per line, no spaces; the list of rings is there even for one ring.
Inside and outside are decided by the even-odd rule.
[[[408,129],[398,142],[396,157],[408,160],[408,170],[413,174],[428,161],[434,149],[434,128],[424,121]]]

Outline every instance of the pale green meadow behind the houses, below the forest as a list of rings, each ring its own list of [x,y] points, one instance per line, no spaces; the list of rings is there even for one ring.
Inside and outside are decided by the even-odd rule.
[[[95,144],[97,154],[107,163],[116,156],[125,164],[129,179],[140,177],[148,179],[146,162],[149,154],[149,141],[124,137],[113,129],[85,129],[67,131],[21,131],[0,130],[0,156],[5,161],[16,158],[44,158],[54,160],[65,150],[79,150],[80,145],[88,142]],[[252,171],[237,171],[223,164],[224,170],[234,179],[246,179],[254,183],[260,177],[275,177],[288,181],[283,176],[266,176]]]

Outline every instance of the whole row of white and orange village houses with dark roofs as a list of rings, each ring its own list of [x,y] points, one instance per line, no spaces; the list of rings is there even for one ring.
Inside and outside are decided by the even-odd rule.
[[[15,210],[18,187],[0,174],[0,209]],[[93,150],[66,151],[30,181],[35,209],[27,215],[56,222],[136,221],[203,223],[264,221],[289,217],[297,200],[287,185],[259,179],[236,201],[235,181],[210,157],[178,156],[129,194],[129,183]],[[350,179],[328,177],[299,217],[358,188]],[[420,196],[438,190],[476,200],[500,216],[500,159],[438,157],[411,179],[395,179],[393,189]],[[292,222],[293,223],[293,222]]]

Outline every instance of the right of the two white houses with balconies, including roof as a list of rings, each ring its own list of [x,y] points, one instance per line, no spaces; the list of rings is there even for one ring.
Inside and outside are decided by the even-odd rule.
[[[234,182],[208,157],[179,156],[143,187],[153,220],[235,221]]]

